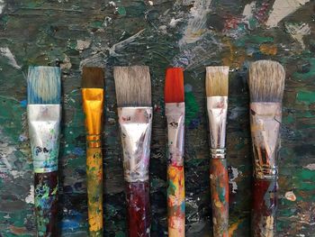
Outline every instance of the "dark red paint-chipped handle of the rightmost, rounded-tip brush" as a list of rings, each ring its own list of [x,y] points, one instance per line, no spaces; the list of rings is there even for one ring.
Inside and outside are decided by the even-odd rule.
[[[276,178],[273,180],[254,180],[251,219],[253,237],[275,236],[276,192]]]

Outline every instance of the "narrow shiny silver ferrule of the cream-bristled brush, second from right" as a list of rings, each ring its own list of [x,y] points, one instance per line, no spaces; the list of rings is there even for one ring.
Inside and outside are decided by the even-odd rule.
[[[207,97],[207,111],[211,138],[211,158],[225,159],[228,96]]]

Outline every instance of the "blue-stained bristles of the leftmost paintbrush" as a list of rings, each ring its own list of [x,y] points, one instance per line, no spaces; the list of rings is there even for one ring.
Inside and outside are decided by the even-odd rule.
[[[59,105],[60,75],[58,67],[30,67],[27,77],[28,104]]]

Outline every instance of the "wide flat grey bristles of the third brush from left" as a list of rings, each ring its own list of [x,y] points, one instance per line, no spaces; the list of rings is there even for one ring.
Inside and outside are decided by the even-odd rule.
[[[114,67],[119,107],[151,106],[151,81],[147,66]]]

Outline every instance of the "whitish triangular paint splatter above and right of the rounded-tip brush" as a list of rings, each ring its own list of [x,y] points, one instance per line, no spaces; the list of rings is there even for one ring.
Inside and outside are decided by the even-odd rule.
[[[300,42],[302,49],[305,49],[303,37],[311,34],[311,28],[308,23],[285,23],[286,32],[290,33],[291,37]]]

